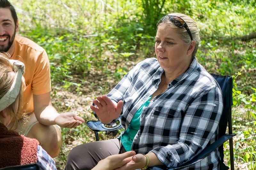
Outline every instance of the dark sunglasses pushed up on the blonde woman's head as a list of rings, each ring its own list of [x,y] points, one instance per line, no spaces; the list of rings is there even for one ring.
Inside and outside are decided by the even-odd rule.
[[[180,17],[177,17],[177,16],[173,16],[173,15],[164,15],[159,21],[158,23],[156,24],[157,26],[159,25],[159,23],[163,22],[167,17],[169,17],[169,20],[172,22],[172,24],[174,24],[175,26],[178,26],[180,28],[183,28],[185,27],[185,29],[187,30],[189,36],[190,36],[190,39],[191,41],[193,40],[193,37],[192,37],[192,34],[188,28],[188,25],[187,23]]]

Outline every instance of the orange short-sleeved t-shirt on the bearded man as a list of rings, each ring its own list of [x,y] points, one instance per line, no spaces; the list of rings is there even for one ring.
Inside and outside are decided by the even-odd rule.
[[[15,49],[11,59],[25,64],[23,111],[30,113],[34,111],[33,94],[40,95],[51,91],[50,63],[44,48],[34,41],[16,35],[13,43]]]

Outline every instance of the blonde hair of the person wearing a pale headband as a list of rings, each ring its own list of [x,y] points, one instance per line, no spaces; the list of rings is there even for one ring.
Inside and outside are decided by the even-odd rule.
[[[12,63],[9,61],[10,55],[8,53],[0,52],[0,99],[5,93],[11,88],[15,78],[15,70]],[[24,78],[21,80],[20,91],[16,100],[8,107],[6,107],[6,113],[12,117],[11,129],[17,128],[18,120],[23,116],[21,113],[22,99],[23,99],[23,88],[25,86]],[[17,112],[15,107],[18,106]]]

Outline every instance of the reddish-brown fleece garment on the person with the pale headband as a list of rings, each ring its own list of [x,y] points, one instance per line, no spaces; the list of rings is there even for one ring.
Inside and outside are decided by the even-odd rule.
[[[0,123],[0,168],[37,162],[36,139],[19,135]]]

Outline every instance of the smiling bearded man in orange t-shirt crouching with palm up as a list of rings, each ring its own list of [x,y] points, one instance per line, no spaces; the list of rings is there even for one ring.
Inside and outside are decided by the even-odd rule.
[[[25,64],[23,112],[18,131],[36,138],[46,152],[56,157],[60,152],[60,127],[74,128],[84,119],[73,113],[59,114],[51,104],[51,73],[45,50],[28,38],[15,35],[19,23],[16,11],[8,0],[0,0],[0,51]]]

